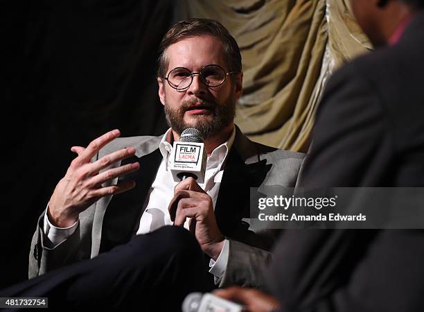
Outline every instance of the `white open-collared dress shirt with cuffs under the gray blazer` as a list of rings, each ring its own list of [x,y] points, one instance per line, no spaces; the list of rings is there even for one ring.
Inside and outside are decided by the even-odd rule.
[[[170,172],[170,162],[172,157],[173,146],[166,139],[171,137],[171,129],[166,131],[164,137],[159,144],[159,150],[162,155],[162,161],[159,165],[156,177],[150,187],[150,195],[145,199],[145,210],[140,219],[139,229],[136,234],[146,234],[158,229],[164,225],[173,225],[170,220],[168,212],[168,205],[170,200],[174,197],[174,188],[178,182],[174,182],[172,173]],[[220,189],[220,182],[222,179],[224,162],[227,159],[229,150],[236,136],[236,130],[233,129],[228,141],[224,142],[215,148],[211,155],[206,160],[206,172],[204,183],[199,184],[200,187],[211,196],[213,202],[213,209],[215,209],[216,200],[218,198],[218,191]],[[141,168],[141,170],[143,170]],[[47,210],[46,210],[47,211]],[[69,236],[76,231],[79,220],[71,225],[71,227],[55,227],[50,223],[47,217],[47,212],[44,216],[44,234],[46,238],[46,247],[55,248],[63,243]],[[184,227],[188,229],[189,218],[184,223]],[[224,247],[216,261],[211,259],[209,266],[211,272],[215,277],[215,283],[222,277],[227,268],[229,257],[229,241],[225,239]]]

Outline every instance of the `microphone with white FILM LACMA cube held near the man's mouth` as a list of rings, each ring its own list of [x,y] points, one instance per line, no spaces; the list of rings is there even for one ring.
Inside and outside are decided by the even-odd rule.
[[[175,182],[180,182],[186,177],[193,177],[197,183],[202,184],[205,170],[206,150],[202,134],[195,128],[186,128],[179,141],[174,141],[170,164],[173,179]]]

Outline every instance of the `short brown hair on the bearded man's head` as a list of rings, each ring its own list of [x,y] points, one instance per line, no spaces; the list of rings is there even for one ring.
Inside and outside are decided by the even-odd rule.
[[[229,34],[227,28],[218,21],[211,19],[184,19],[170,28],[159,45],[157,76],[164,78],[168,67],[166,49],[189,37],[209,35],[217,38],[224,46],[225,58],[229,71],[241,71],[241,55],[236,40]]]

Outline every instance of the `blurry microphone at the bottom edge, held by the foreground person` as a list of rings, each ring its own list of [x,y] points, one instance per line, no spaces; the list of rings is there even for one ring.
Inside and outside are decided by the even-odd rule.
[[[211,293],[189,293],[182,303],[183,312],[242,312],[243,307]]]

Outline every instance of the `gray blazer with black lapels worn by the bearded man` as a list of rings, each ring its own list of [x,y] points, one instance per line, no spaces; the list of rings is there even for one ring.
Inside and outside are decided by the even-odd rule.
[[[91,259],[99,252],[130,240],[143,213],[141,207],[161,162],[161,138],[119,138],[99,151],[96,159],[121,148],[134,146],[135,156],[123,162],[133,162],[134,158],[140,162],[139,171],[129,177],[136,180],[136,187],[113,196],[113,200],[112,196],[101,198],[83,211],[76,232],[55,248],[48,248],[44,243],[43,212],[31,243],[29,277],[42,275],[48,270],[76,261]],[[301,153],[254,143],[236,127],[236,137],[227,159],[215,205],[218,227],[229,239],[229,261],[227,270],[219,281],[220,287],[238,284],[263,288],[263,270],[270,261],[270,249],[279,232],[254,232],[249,229],[250,191],[252,187],[268,185],[295,187],[304,156]],[[117,178],[110,183],[116,182]],[[114,211],[119,213],[115,214]]]

